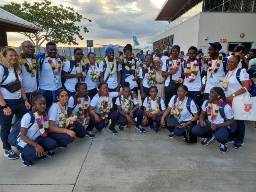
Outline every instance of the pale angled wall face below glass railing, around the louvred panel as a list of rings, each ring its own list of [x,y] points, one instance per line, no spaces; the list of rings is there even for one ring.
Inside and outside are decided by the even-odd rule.
[[[174,35],[173,45],[179,45],[185,54],[190,46],[198,45],[200,14],[153,38],[153,42]]]

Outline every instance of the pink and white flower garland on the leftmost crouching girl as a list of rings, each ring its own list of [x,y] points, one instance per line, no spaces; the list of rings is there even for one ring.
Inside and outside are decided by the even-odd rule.
[[[43,122],[45,124],[45,128],[43,128],[43,122],[42,119],[39,117],[38,111],[35,109],[35,107],[32,107],[32,112],[35,116],[36,123],[34,123],[33,127],[37,128],[39,127],[40,136],[46,137],[49,132],[49,120],[47,117],[46,112],[43,112]]]

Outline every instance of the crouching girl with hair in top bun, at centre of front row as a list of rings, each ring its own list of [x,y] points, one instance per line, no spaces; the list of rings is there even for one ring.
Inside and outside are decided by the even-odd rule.
[[[141,132],[145,132],[145,130],[141,127],[141,122],[143,119],[143,110],[139,109],[139,103],[136,98],[131,94],[130,84],[128,82],[124,82],[123,85],[123,95],[119,96],[116,100],[115,104],[117,105],[119,115],[119,130],[123,131],[124,126],[132,124],[133,118],[137,117],[137,125],[136,129]]]

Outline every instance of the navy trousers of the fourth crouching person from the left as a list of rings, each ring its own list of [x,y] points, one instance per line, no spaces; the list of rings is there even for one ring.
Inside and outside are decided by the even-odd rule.
[[[96,113],[97,114],[97,113]],[[97,114],[100,117],[100,114]],[[119,118],[119,113],[115,111],[113,108],[110,109],[108,119],[111,119],[111,124],[109,129],[113,131],[115,128],[115,124],[117,124],[117,120]],[[88,125],[87,129],[91,129],[95,127],[98,131],[101,131],[106,125],[105,120],[100,119],[100,122],[95,122],[94,116],[90,115],[90,124]]]

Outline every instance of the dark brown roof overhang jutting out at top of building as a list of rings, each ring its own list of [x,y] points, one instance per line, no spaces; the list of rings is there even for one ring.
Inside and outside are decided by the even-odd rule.
[[[174,21],[202,0],[166,0],[155,21]]]

